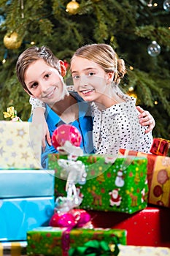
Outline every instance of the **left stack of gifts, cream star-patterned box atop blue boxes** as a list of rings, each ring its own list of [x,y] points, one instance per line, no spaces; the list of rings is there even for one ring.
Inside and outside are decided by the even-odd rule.
[[[18,255],[27,231],[48,225],[53,214],[54,172],[41,167],[40,131],[0,121],[0,255]]]

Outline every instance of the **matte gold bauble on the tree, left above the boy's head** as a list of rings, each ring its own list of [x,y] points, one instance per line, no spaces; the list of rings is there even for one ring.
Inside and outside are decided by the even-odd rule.
[[[21,43],[22,41],[21,39],[19,39],[18,33],[16,32],[12,32],[10,34],[8,33],[4,36],[4,46],[7,49],[10,49],[10,50],[18,49],[20,48]]]

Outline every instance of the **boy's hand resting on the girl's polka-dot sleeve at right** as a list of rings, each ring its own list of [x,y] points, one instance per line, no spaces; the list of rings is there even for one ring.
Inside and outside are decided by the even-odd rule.
[[[142,126],[148,126],[145,130],[145,133],[151,132],[155,127],[155,119],[152,117],[149,111],[143,110],[143,108],[136,106],[136,109],[139,111],[139,123]]]

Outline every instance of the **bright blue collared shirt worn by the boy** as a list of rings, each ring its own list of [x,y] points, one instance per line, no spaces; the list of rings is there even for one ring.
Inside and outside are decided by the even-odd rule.
[[[72,124],[74,127],[79,129],[80,134],[82,135],[82,143],[80,148],[82,148],[84,154],[93,153],[93,138],[92,138],[92,129],[93,129],[93,118],[90,113],[90,105],[88,102],[85,102],[79,94],[75,91],[69,92],[75,99],[79,106],[79,118],[78,120],[73,121]],[[61,118],[48,106],[46,105],[46,121],[50,136],[53,135],[55,129],[61,124],[65,124]],[[47,144],[45,151],[42,153],[42,167],[48,168],[48,154],[57,153],[58,151],[53,147]]]

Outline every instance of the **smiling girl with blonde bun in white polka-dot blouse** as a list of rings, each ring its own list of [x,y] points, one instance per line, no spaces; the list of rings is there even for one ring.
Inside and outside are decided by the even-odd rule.
[[[125,62],[110,45],[79,48],[71,60],[74,89],[93,109],[93,146],[98,154],[117,154],[120,148],[148,153],[152,133],[139,124],[136,99],[119,89]]]

